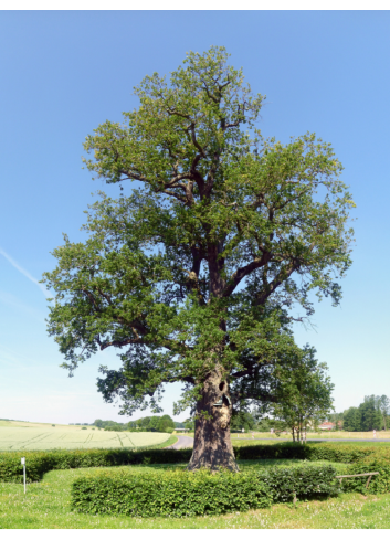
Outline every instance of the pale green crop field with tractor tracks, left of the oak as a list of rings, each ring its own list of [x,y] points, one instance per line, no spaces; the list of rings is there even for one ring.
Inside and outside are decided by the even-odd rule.
[[[169,437],[168,433],[105,432],[91,426],[82,430],[82,426],[52,427],[51,424],[0,425],[0,452],[136,448],[161,444]]]

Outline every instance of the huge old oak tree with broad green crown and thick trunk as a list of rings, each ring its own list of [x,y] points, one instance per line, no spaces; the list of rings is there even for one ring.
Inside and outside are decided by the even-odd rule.
[[[253,95],[223,47],[189,53],[169,82],[135,89],[139,107],[87,137],[85,162],[129,195],[102,194],[85,243],[54,251],[45,274],[56,293],[49,331],[73,371],[98,350],[119,350],[98,388],[123,413],[156,412],[180,381],[176,412],[192,406],[190,469],[235,469],[234,407],[273,400],[272,366],[297,348],[294,304],[312,292],[340,299],[350,265],[350,194],[341,165],[313,134],[263,139]]]

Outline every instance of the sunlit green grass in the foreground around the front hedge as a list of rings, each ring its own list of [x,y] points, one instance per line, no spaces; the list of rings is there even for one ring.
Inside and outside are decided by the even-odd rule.
[[[288,460],[292,466],[295,460]],[[259,464],[259,462],[257,462]],[[271,463],[270,463],[271,464]],[[272,460],[276,464],[276,460]],[[281,460],[280,465],[286,465]],[[267,466],[263,463],[262,466]],[[340,464],[337,464],[340,466]],[[240,467],[259,466],[240,463]],[[165,468],[134,467],[137,469]],[[95,469],[52,470],[28,486],[0,483],[0,529],[389,529],[390,495],[345,494],[324,501],[274,505],[219,517],[127,518],[88,516],[70,509],[71,485]]]

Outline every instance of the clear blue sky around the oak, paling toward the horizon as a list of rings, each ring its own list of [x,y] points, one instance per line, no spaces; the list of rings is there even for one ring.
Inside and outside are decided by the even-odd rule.
[[[211,45],[224,45],[267,95],[265,136],[315,131],[342,162],[357,203],[354,265],[340,307],[318,304],[315,330],[296,327],[296,339],[328,363],[338,411],[390,395],[389,22],[390,12],[1,12],[0,417],[124,421],[95,385],[101,363],[118,366],[115,354],[72,379],[59,368],[38,280],[63,232],[83,237],[91,193],[118,193],[82,169],[86,135],[137,106],[133,87],[145,75]],[[167,389],[166,413],[178,392]]]

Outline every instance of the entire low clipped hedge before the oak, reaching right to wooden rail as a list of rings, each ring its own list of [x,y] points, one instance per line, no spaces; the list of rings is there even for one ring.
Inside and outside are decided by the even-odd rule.
[[[105,470],[73,483],[72,508],[84,513],[133,517],[215,516],[267,508],[294,496],[337,495],[335,476],[331,466],[308,465],[240,474]]]

